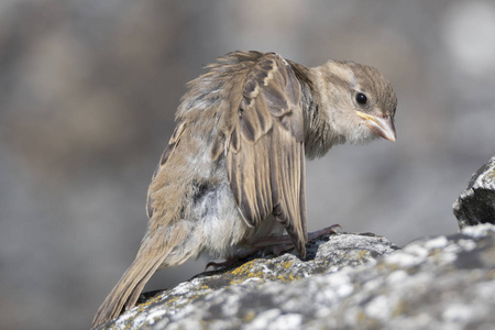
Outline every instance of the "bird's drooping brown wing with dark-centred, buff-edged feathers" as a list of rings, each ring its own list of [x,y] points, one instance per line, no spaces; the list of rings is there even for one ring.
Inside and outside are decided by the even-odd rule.
[[[256,54],[258,56],[258,54]],[[235,87],[234,87],[235,88]],[[304,118],[300,85],[280,56],[260,56],[240,86],[227,139],[230,187],[245,222],[273,213],[306,254]],[[233,90],[233,95],[239,95]]]

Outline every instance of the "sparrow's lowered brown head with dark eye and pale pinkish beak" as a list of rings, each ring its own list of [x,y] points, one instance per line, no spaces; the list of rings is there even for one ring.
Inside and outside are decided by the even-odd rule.
[[[330,61],[319,67],[321,106],[339,142],[362,143],[382,136],[396,140],[397,97],[374,67]]]

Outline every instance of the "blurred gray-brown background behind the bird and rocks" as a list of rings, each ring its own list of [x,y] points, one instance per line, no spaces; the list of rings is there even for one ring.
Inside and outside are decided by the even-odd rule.
[[[370,64],[397,92],[396,143],[308,165],[310,230],[457,231],[452,202],[495,152],[493,1],[1,0],[2,329],[89,327],[140,245],[184,85],[234,50]]]

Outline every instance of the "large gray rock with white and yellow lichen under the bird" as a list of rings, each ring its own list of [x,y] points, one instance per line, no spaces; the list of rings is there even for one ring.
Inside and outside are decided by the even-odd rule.
[[[208,272],[148,297],[112,329],[491,329],[495,227],[415,241],[334,234]]]

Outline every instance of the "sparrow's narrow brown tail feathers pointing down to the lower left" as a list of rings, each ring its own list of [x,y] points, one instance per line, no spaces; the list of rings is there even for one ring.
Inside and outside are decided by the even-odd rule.
[[[150,241],[147,243],[151,243]],[[131,266],[105,299],[92,320],[91,329],[117,318],[123,310],[134,307],[144,285],[170,253],[169,244],[142,246]],[[155,245],[155,246],[153,246]],[[161,249],[156,249],[161,245]]]

